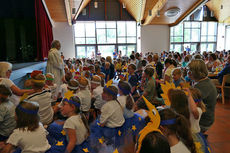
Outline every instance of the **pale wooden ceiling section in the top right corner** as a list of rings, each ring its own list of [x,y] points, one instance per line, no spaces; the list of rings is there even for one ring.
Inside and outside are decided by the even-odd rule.
[[[230,24],[230,1],[210,0],[206,4],[220,23]]]

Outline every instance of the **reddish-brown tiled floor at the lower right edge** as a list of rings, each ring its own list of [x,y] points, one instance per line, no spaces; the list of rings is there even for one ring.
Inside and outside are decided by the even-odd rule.
[[[215,112],[215,122],[208,130],[208,142],[212,153],[230,153],[230,100],[226,104],[218,101]]]

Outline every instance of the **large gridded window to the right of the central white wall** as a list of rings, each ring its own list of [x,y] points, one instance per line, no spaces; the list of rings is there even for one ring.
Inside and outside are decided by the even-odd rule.
[[[217,42],[217,22],[185,21],[170,28],[170,50],[181,52],[214,51]]]

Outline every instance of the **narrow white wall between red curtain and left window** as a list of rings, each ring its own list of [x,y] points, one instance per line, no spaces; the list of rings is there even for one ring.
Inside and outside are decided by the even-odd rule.
[[[54,40],[61,42],[61,52],[66,58],[75,57],[74,29],[67,22],[55,22],[53,27]]]

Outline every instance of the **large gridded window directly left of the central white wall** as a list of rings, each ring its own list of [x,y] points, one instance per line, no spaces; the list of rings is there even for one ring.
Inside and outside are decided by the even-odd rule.
[[[112,56],[114,50],[121,50],[123,56],[136,51],[137,26],[134,21],[89,21],[77,22],[75,29],[76,56]],[[93,52],[93,53],[92,53]]]

